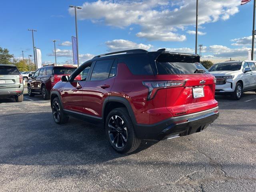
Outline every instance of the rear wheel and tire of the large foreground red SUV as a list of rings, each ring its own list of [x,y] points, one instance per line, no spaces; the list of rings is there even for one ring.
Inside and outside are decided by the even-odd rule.
[[[136,137],[126,108],[116,108],[110,111],[106,118],[105,130],[108,142],[118,153],[131,153],[140,146],[141,140]]]

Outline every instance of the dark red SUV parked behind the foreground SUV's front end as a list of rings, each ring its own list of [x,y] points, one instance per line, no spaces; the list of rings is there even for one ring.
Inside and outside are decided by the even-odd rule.
[[[52,87],[61,80],[63,75],[70,75],[76,67],[70,66],[44,66],[39,68],[34,75],[29,75],[28,95],[42,94],[44,100],[50,99]]]

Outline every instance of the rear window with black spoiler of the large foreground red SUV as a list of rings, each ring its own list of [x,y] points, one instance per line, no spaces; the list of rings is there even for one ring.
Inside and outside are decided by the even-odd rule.
[[[160,54],[156,60],[156,67],[159,75],[209,73],[199,61],[199,56]]]

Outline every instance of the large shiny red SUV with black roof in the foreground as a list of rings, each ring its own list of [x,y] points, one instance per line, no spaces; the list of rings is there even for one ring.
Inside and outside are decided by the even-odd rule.
[[[219,115],[215,83],[198,55],[165,49],[102,54],[62,76],[51,91],[52,114],[58,124],[69,116],[102,124],[110,145],[129,153],[142,139],[204,130]]]

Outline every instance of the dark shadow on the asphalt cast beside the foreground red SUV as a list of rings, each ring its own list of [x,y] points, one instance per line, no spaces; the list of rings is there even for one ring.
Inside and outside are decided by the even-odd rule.
[[[81,165],[126,156],[111,148],[101,127],[80,120],[58,125],[50,112],[10,114],[0,120],[1,164]],[[144,142],[136,152],[155,143]]]

